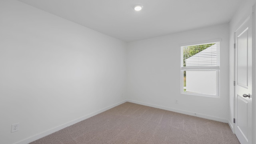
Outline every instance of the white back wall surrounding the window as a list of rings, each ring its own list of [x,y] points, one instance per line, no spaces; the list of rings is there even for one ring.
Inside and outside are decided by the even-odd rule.
[[[181,94],[180,45],[221,38],[220,98]],[[131,102],[228,122],[228,24],[128,43],[127,96]],[[175,100],[178,104],[175,104]]]

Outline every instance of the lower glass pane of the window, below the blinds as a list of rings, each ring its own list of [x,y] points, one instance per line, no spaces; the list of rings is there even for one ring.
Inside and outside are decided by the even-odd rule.
[[[184,70],[184,92],[216,95],[216,70]]]

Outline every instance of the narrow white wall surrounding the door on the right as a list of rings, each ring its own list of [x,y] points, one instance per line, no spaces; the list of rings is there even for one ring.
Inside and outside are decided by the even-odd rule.
[[[230,21],[230,52],[229,52],[229,65],[230,65],[230,71],[229,71],[229,79],[230,79],[230,87],[229,87],[229,97],[230,97],[230,102],[229,102],[229,124],[233,130],[233,118],[234,116],[234,32],[244,22],[244,20],[252,13],[252,6],[255,4],[255,0],[244,0],[236,13],[234,14],[232,20]],[[256,127],[255,127],[256,128]]]

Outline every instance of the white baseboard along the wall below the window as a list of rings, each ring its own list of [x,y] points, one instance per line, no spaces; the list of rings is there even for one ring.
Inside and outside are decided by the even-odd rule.
[[[198,114],[198,113],[195,113],[195,112],[188,112],[188,111],[185,111],[185,110],[178,110],[178,109],[174,109],[174,108],[168,108],[168,107],[165,107],[165,106],[159,106],[159,105],[155,105],[155,104],[148,104],[148,103],[145,103],[145,102],[138,102],[138,101],[135,101],[135,100],[127,100],[127,102],[132,102],[132,103],[135,103],[135,104],[141,104],[141,105],[144,105],[144,106],[150,106],[150,107],[153,107],[153,108],[160,108],[160,109],[163,109],[163,110],[169,110],[169,111],[172,111],[172,112],[178,112],[178,113],[181,113],[181,114],[187,114],[187,115],[196,116],[196,117],[199,117],[199,118],[206,118],[206,119],[215,120],[215,121],[218,121],[218,122],[228,123],[228,120],[226,120],[226,119],[218,118],[218,117],[214,117],[214,116],[208,116],[208,115],[204,115],[204,114]]]

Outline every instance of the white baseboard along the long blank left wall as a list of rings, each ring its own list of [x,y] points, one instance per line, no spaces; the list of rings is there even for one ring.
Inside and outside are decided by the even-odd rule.
[[[95,116],[95,115],[97,115],[97,114],[99,114],[99,113],[101,113],[101,112],[104,112],[104,111],[106,111],[106,110],[109,110],[110,108],[114,108],[115,106],[118,106],[118,105],[123,104],[123,103],[125,103],[125,102],[126,102],[126,100],[124,100],[124,101],[122,101],[122,102],[118,102],[118,103],[116,103],[116,104],[113,104],[113,105],[111,105],[111,106],[108,106],[108,107],[106,107],[106,108],[103,108],[103,109],[101,109],[101,110],[98,110],[98,111],[96,111],[96,112],[90,113],[90,114],[88,114],[88,115],[86,115],[86,116],[82,116],[81,118],[78,118],[78,119],[76,119],[76,120],[72,120],[72,121],[70,121],[70,122],[67,122],[66,124],[62,124],[62,125],[60,125],[60,126],[57,126],[57,127],[55,127],[55,128],[52,128],[52,129],[50,129],[50,130],[46,130],[46,131],[44,131],[44,132],[42,132],[42,133],[40,133],[40,134],[36,134],[36,135],[34,135],[34,136],[31,136],[31,137],[29,137],[29,138],[26,138],[26,139],[24,139],[24,140],[21,140],[21,141],[19,141],[19,142],[14,143],[14,144],[28,144],[28,143],[30,143],[30,142],[33,142],[33,141],[38,140],[38,139],[40,139],[40,138],[43,138],[44,136],[47,136],[47,135],[52,134],[52,133],[54,133],[54,132],[57,132],[57,131],[59,131],[59,130],[61,130],[61,129],[63,129],[63,128],[66,128],[66,127],[68,127],[68,126],[71,126],[71,125],[73,125],[73,124],[76,124],[76,123],[78,123],[78,122],[81,122],[82,120],[86,120],[87,118],[90,118],[90,117],[92,117],[92,116]]]

